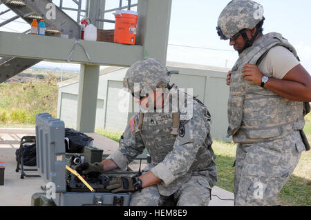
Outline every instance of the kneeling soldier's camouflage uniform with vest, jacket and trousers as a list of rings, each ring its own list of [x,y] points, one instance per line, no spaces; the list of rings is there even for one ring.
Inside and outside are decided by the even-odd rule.
[[[169,90],[172,92],[178,89],[174,86]],[[136,113],[124,131],[120,149],[109,156],[119,168],[126,169],[147,148],[151,163],[143,173],[151,171],[162,179],[133,193],[131,206],[161,206],[170,198],[178,201],[177,206],[209,203],[211,188],[217,181],[209,136],[211,117],[200,101],[182,95],[187,97],[187,103],[192,103],[191,110],[181,105],[178,112]]]

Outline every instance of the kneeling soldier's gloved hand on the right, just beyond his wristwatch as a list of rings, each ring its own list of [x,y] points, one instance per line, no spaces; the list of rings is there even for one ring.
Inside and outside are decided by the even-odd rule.
[[[135,192],[142,189],[142,181],[137,177],[113,177],[106,189],[111,192]]]

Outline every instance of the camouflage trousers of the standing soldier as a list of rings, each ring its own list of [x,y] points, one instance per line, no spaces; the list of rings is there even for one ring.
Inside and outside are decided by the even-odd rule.
[[[262,143],[238,143],[234,206],[274,206],[305,150],[299,132]]]

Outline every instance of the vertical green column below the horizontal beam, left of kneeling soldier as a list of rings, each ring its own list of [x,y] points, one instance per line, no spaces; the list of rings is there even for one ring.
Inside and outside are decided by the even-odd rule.
[[[94,132],[100,66],[81,65],[77,104],[77,130]]]

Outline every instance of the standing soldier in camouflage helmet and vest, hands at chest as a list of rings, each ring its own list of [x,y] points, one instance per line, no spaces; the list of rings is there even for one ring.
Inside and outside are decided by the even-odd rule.
[[[311,77],[281,34],[263,34],[263,7],[230,1],[218,19],[220,39],[239,57],[227,75],[228,137],[236,150],[235,206],[272,206],[301,157]]]

